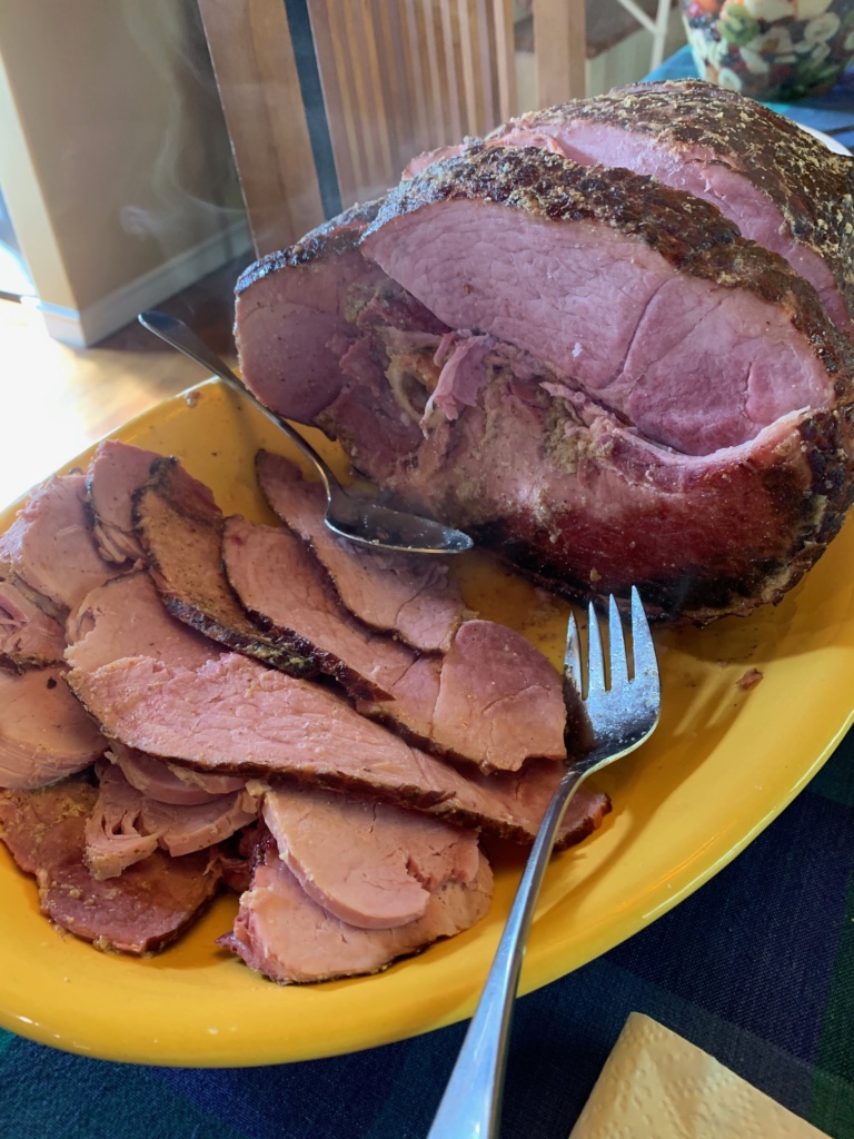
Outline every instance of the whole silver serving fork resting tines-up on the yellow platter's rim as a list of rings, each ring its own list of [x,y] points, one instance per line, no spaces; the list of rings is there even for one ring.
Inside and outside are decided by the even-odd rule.
[[[609,597],[608,681],[593,606],[589,609],[586,667],[575,614],[569,617],[564,656],[567,751],[577,754],[581,749],[581,755],[567,768],[540,823],[492,968],[428,1139],[498,1137],[507,1044],[525,942],[558,827],[581,782],[591,772],[633,752],[658,723],[658,665],[649,624],[634,587],[631,625],[634,666],[630,674],[623,624],[616,601]]]

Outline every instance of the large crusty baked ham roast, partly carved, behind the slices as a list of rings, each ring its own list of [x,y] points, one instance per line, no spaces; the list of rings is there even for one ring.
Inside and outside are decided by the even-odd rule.
[[[675,137],[683,93],[708,113]],[[244,378],[399,502],[572,597],[637,584],[650,615],[696,623],[778,601],[852,500],[854,349],[828,316],[852,301],[852,181],[803,132],[796,162],[790,126],[774,185],[752,175],[748,103],[633,90],[427,165],[244,273]],[[608,117],[619,138],[582,156]],[[754,122],[767,156],[777,120]],[[507,145],[537,132],[549,149]],[[753,202],[738,224],[714,204],[733,186]],[[741,235],[750,210],[759,237],[788,219],[798,272]]]

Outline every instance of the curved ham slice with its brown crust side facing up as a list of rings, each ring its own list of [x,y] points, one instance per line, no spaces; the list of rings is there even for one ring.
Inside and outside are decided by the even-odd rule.
[[[133,494],[133,522],[169,612],[228,648],[290,675],[314,675],[304,644],[265,633],[244,612],[222,570],[223,519],[207,487],[162,459]]]

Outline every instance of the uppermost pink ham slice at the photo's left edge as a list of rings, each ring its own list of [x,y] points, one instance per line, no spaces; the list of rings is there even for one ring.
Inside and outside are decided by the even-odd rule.
[[[84,499],[83,475],[50,478],[0,538],[0,576],[60,620],[116,572],[98,552]]]

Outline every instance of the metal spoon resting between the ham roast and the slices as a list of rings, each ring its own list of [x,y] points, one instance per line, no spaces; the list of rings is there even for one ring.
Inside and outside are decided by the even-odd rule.
[[[249,400],[258,411],[280,427],[288,439],[299,448],[306,459],[311,459],[323,480],[327,498],[325,522],[329,530],[348,538],[352,542],[379,546],[388,550],[405,550],[411,554],[462,554],[470,550],[474,542],[460,530],[443,526],[432,518],[420,518],[414,514],[389,510],[376,502],[353,498],[340,485],[326,461],[311,443],[296,432],[290,424],[265,408],[247,391],[228,364],[216,355],[182,320],[165,312],[149,311],[139,314],[139,322],[149,333],[159,336],[173,349],[183,352],[200,363],[229,387]]]

